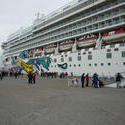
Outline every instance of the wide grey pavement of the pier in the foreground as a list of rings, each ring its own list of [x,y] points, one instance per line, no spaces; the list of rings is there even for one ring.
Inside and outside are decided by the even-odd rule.
[[[123,125],[125,89],[67,87],[66,79],[4,78],[0,125]]]

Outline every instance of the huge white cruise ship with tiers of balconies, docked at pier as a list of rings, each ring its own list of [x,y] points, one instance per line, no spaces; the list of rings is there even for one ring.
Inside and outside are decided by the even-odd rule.
[[[38,15],[32,25],[11,34],[2,48],[9,70],[16,70],[13,60],[26,52],[23,61],[38,63],[40,72],[125,72],[125,0],[72,1],[47,16]]]

